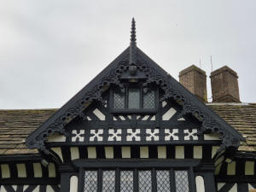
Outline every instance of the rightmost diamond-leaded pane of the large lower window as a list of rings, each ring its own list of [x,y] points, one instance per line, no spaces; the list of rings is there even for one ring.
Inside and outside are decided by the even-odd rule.
[[[187,171],[175,171],[176,192],[189,192],[189,179]]]

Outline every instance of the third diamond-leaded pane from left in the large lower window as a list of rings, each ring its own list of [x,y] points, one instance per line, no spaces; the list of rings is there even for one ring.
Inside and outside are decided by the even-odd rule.
[[[120,172],[120,192],[133,192],[133,172]]]

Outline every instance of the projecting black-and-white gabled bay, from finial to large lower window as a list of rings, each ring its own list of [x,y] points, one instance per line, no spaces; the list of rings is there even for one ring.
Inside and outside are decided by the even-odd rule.
[[[215,159],[242,137],[137,48],[132,24],[130,47],[26,144],[67,170],[63,191],[195,191],[195,177],[215,191]]]

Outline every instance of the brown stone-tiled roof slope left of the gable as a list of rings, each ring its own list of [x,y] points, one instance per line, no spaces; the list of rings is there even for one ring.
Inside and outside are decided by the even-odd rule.
[[[26,137],[56,109],[0,110],[0,154],[38,154],[28,149]]]

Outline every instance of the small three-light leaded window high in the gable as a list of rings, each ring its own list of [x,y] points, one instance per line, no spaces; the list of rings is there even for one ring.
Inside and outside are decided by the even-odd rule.
[[[157,91],[149,87],[113,88],[113,111],[155,111]]]

